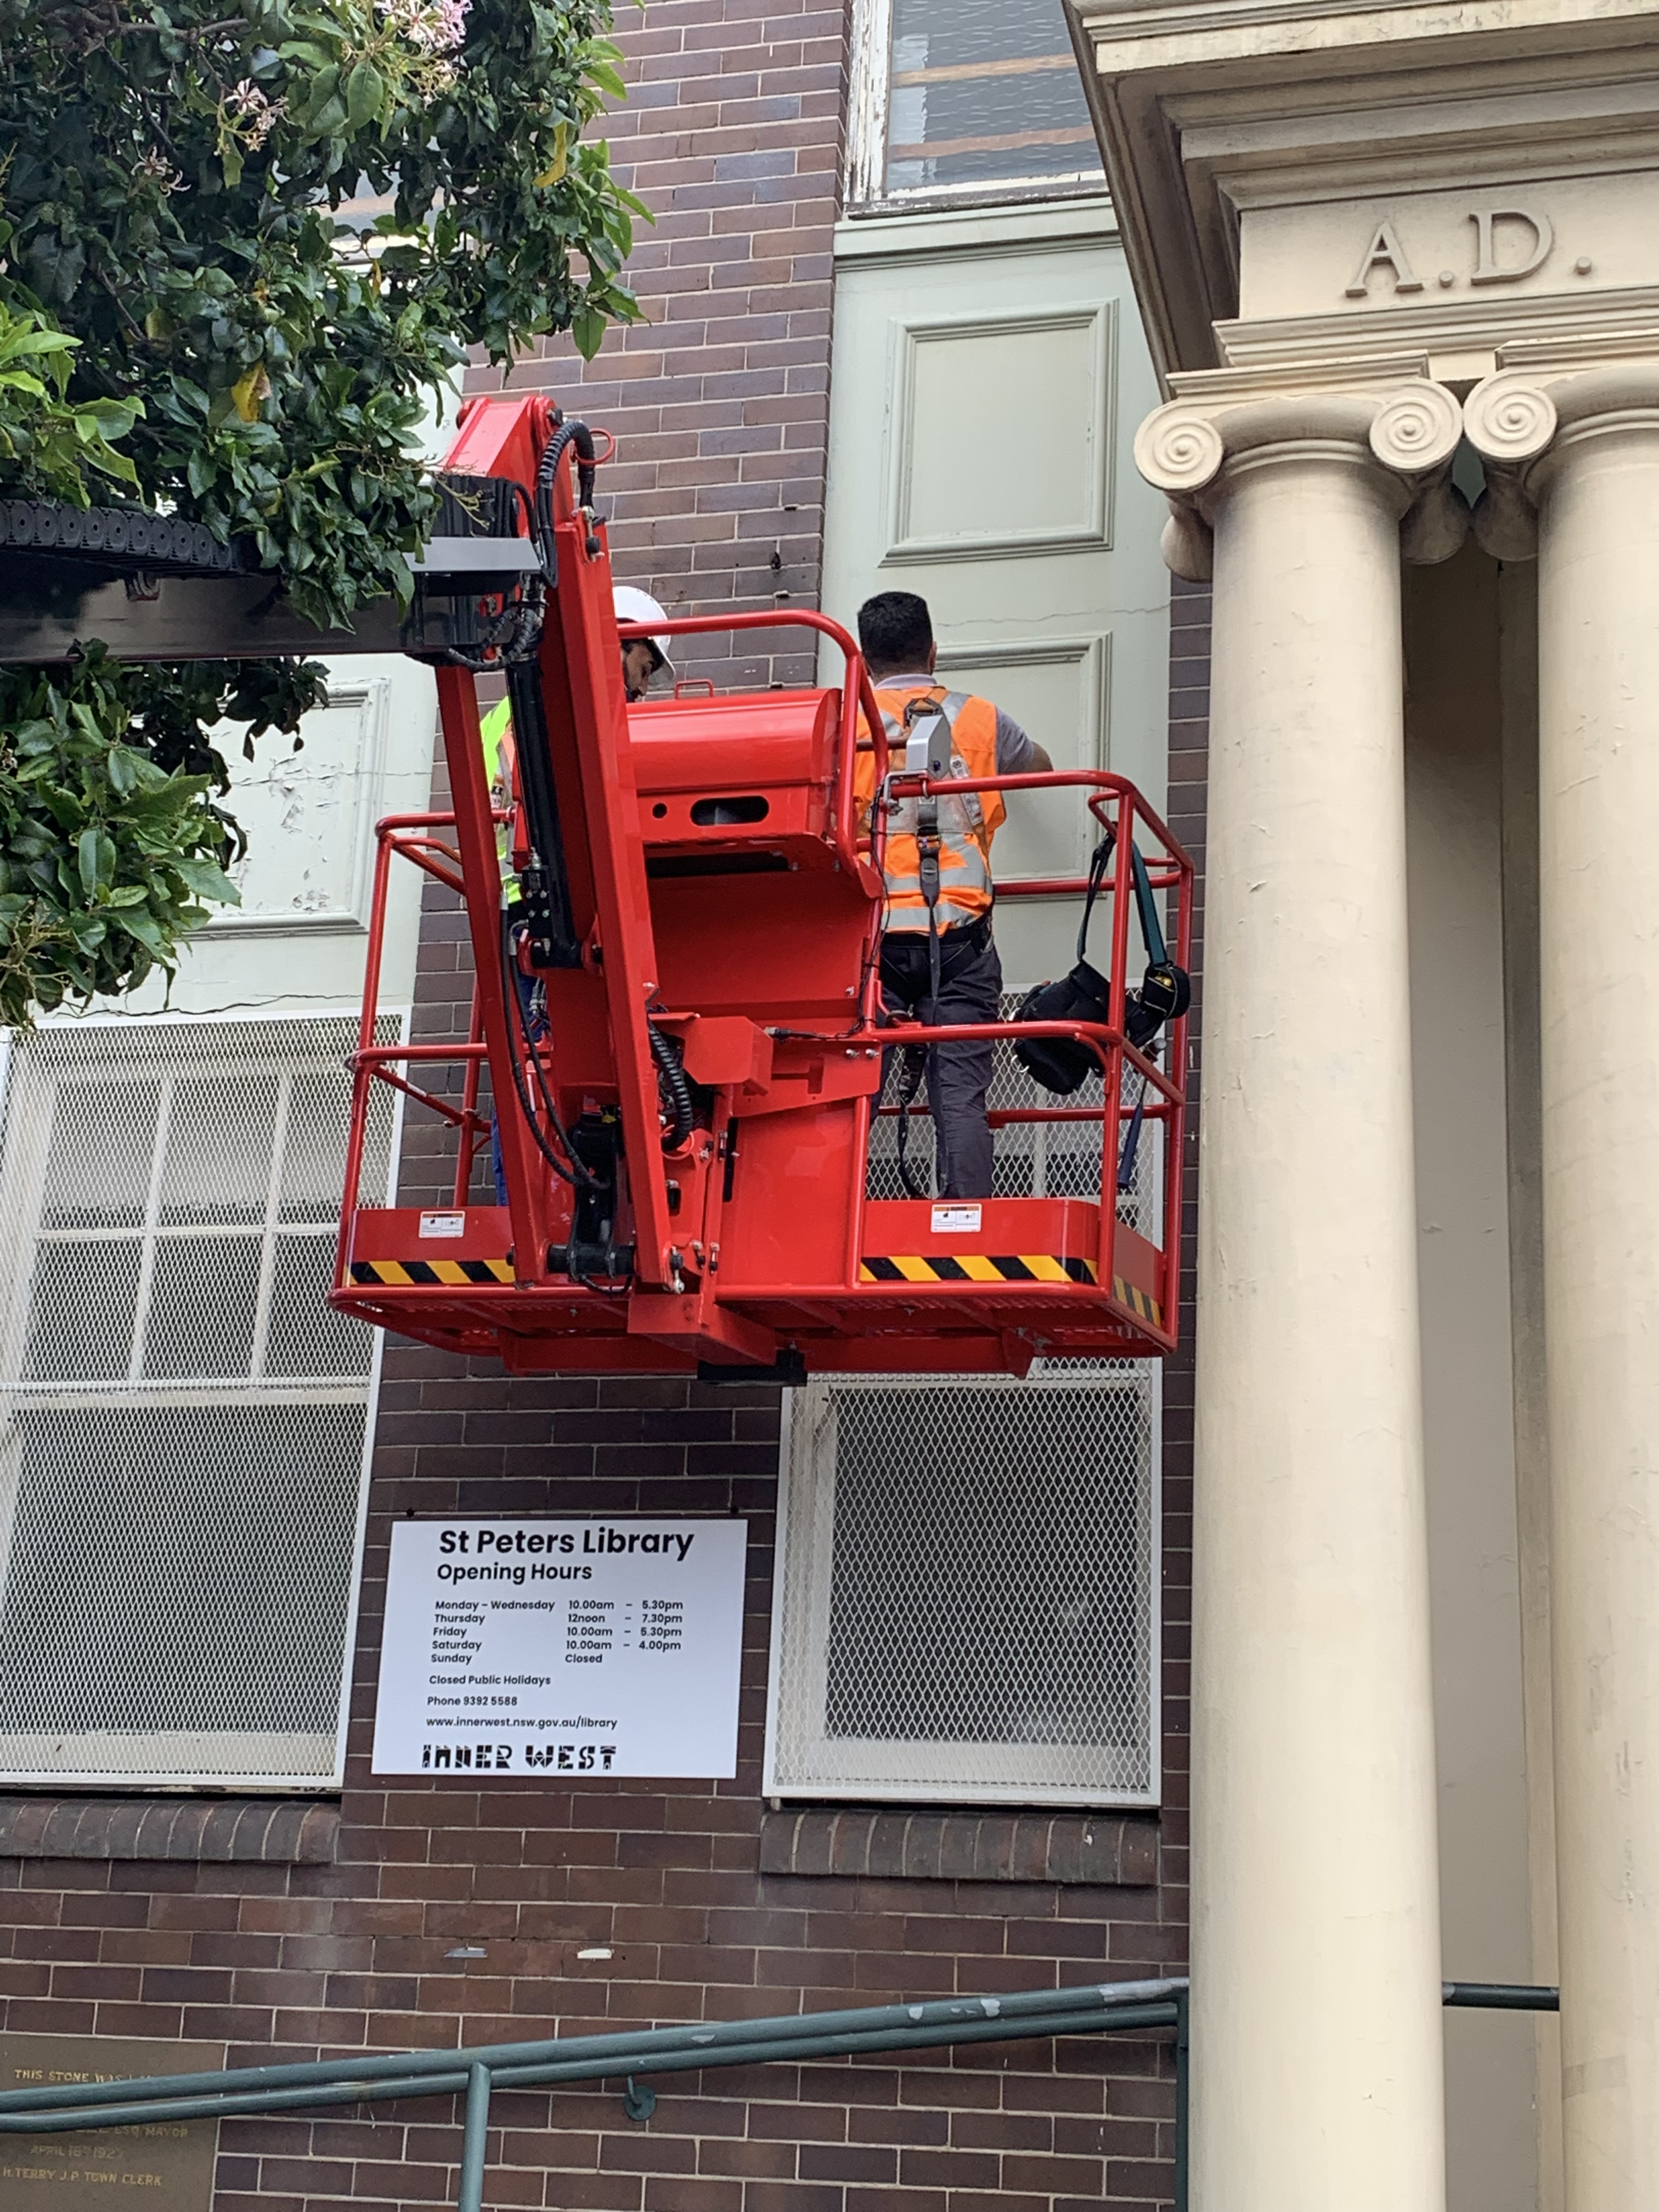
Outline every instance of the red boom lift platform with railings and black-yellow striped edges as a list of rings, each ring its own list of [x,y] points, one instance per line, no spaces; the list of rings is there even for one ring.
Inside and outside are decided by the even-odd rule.
[[[1035,1356],[1170,1352],[1186,1020],[1170,1026],[1168,1066],[1128,1042],[1124,1020],[1133,872],[1186,967],[1188,856],[1119,776],[971,785],[1075,787],[1113,841],[1110,1018],[1042,1024],[1097,1057],[1099,1086],[993,1115],[1073,1124],[1073,1146],[1097,1150],[1099,1194],[869,1197],[872,1128],[891,1113],[885,1051],[1022,1031],[880,1024],[885,807],[860,796],[860,754],[865,794],[927,783],[894,774],[863,661],[836,624],[670,622],[672,633],[805,624],[838,644],[845,679],[741,697],[681,684],[672,699],[626,703],[593,460],[586,429],[544,398],[473,403],[447,460],[451,491],[471,500],[462,526],[480,538],[478,639],[438,670],[453,814],[380,823],[332,1303],[529,1374],[1024,1374]],[[498,666],[518,750],[507,816],[491,810],[476,699],[476,675]],[[518,865],[509,883],[498,832]],[[465,900],[476,969],[465,1037],[376,1042],[394,860]],[[1079,891],[1040,883],[1002,896]],[[453,1128],[442,1203],[363,1203],[378,1084]],[[1146,1146],[1155,1188],[1126,1208],[1119,1150],[1141,1128],[1161,1133]]]

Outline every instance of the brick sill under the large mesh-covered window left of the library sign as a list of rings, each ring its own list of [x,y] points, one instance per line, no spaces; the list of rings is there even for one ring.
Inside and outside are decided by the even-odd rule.
[[[341,1807],[316,1798],[0,1796],[0,1858],[186,1858],[330,1867]]]

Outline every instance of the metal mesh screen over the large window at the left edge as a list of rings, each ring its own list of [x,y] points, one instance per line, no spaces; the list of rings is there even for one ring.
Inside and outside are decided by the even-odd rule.
[[[336,1774],[376,1360],[327,1307],[354,1035],[11,1040],[4,1778]],[[387,1188],[394,1137],[385,1093],[365,1190]]]

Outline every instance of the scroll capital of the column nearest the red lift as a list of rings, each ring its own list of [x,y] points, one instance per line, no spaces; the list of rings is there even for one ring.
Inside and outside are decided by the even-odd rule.
[[[1228,465],[1267,453],[1314,460],[1347,449],[1394,478],[1407,560],[1438,562],[1469,529],[1447,478],[1460,436],[1458,400],[1422,374],[1263,392],[1256,376],[1221,369],[1179,378],[1179,396],[1135,434],[1135,467],[1170,502],[1164,560],[1190,582],[1210,575]]]

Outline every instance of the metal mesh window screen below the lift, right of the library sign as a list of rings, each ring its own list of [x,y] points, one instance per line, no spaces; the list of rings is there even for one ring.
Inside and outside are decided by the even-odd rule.
[[[1155,1796],[1157,1369],[794,1394],[768,1790]]]

